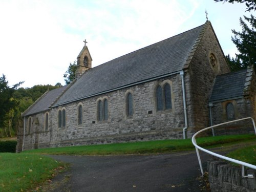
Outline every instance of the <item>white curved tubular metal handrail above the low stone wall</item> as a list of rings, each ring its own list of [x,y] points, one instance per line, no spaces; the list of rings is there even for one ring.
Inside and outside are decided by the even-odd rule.
[[[254,127],[254,131],[255,131],[255,134],[256,134],[256,126],[255,126],[255,122],[254,120],[251,118],[251,117],[247,117],[247,118],[243,118],[243,119],[238,119],[238,120],[233,120],[233,121],[228,121],[228,122],[225,122],[225,123],[220,123],[220,124],[217,124],[217,125],[213,125],[213,126],[209,126],[209,127],[206,127],[205,129],[202,129],[200,131],[198,131],[197,133],[195,133],[192,137],[192,143],[194,144],[194,146],[196,147],[196,152],[197,152],[197,157],[198,157],[198,161],[199,161],[199,165],[200,165],[200,169],[201,169],[201,174],[202,176],[204,175],[204,172],[203,172],[203,166],[202,166],[202,162],[201,162],[201,158],[200,158],[200,155],[199,155],[199,151],[198,150],[201,150],[203,152],[206,152],[210,155],[213,155],[213,156],[216,156],[218,158],[221,158],[221,159],[224,159],[224,160],[227,160],[227,161],[231,161],[233,163],[237,163],[237,164],[240,164],[242,165],[242,176],[243,177],[248,177],[248,178],[253,178],[253,175],[247,175],[245,176],[244,174],[244,166],[246,167],[249,167],[249,168],[252,168],[252,169],[256,169],[256,166],[255,165],[252,165],[252,164],[249,164],[249,163],[245,163],[243,161],[239,161],[239,160],[236,160],[236,159],[232,159],[232,158],[229,158],[229,157],[225,157],[223,155],[219,155],[219,154],[216,154],[214,152],[210,152],[208,150],[206,150],[205,148],[202,148],[200,146],[197,145],[197,141],[196,141],[196,136],[201,133],[201,132],[204,132],[206,130],[209,130],[209,129],[213,129],[214,127],[217,127],[217,126],[221,126],[221,125],[224,125],[224,124],[228,124],[228,123],[233,123],[233,122],[237,122],[237,121],[242,121],[242,120],[246,120],[246,119],[251,119],[252,120],[252,124],[253,124],[253,127]]]

